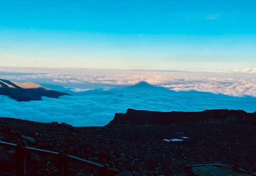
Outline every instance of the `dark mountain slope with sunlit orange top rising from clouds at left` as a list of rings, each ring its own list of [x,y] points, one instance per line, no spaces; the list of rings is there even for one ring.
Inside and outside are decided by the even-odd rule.
[[[32,82],[18,83],[0,79],[0,95],[6,95],[17,101],[42,100],[42,96],[58,98],[68,93],[48,89]]]

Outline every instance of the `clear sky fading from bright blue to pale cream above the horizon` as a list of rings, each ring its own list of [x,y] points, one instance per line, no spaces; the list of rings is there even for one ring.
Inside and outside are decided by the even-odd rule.
[[[256,67],[254,0],[0,1],[1,66]]]

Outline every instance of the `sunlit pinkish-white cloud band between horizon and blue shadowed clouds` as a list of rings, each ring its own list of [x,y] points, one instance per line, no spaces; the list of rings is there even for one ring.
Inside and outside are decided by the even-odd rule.
[[[2,70],[5,73],[1,76],[3,79],[17,82],[31,81],[59,91],[63,91],[64,86],[77,92],[95,88],[125,87],[144,80],[150,84],[175,91],[196,90],[232,96],[256,96],[256,75],[254,75],[256,68],[210,72],[24,69],[12,67],[9,70],[2,67]]]

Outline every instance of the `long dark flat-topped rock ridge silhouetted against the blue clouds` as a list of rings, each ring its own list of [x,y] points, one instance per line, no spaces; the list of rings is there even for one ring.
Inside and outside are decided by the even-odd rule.
[[[175,123],[223,123],[238,120],[252,120],[255,123],[256,113],[243,110],[214,109],[201,112],[159,112],[127,109],[126,113],[115,113],[111,125],[168,125]]]

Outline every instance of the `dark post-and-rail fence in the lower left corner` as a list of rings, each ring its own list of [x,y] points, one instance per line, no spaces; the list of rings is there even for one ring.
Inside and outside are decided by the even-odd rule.
[[[101,171],[101,176],[114,176],[118,172],[109,168],[108,164],[98,164],[89,160],[85,160],[70,154],[65,153],[64,151],[50,151],[50,150],[43,150],[33,147],[28,147],[27,142],[19,142],[17,144],[9,143],[0,141],[0,145],[8,148],[14,148],[16,150],[16,175],[17,176],[24,176],[26,175],[26,165],[27,165],[27,153],[37,153],[37,154],[44,154],[49,155],[52,157],[57,158],[57,164],[58,164],[58,175],[59,176],[67,176],[68,175],[68,163],[69,161],[75,161],[79,162],[81,164],[85,164],[87,166],[93,167],[95,169],[98,169]]]

